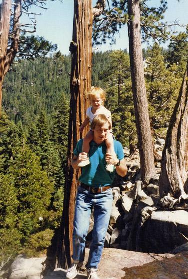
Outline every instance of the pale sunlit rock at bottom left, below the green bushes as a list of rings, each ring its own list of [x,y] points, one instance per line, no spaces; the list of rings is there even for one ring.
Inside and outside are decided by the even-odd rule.
[[[44,267],[43,258],[25,258],[19,255],[10,267],[9,279],[41,279]]]

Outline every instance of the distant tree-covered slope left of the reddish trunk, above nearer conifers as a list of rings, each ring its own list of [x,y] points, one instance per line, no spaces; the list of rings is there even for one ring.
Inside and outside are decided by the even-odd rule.
[[[43,109],[51,125],[52,114],[62,92],[69,94],[71,57],[23,60],[6,74],[3,84],[3,110],[24,127],[36,125]],[[69,97],[67,97],[69,99]]]

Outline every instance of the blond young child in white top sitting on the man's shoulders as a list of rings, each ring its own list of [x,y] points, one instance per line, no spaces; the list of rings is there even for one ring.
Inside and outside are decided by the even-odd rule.
[[[107,110],[102,104],[105,100],[105,92],[100,87],[91,87],[91,90],[88,93],[88,98],[91,102],[91,107],[89,107],[86,111],[86,118],[82,125],[80,126],[80,132],[83,132],[84,128],[93,120],[93,118],[98,114],[104,114],[109,121],[112,123],[111,120],[111,112]],[[89,143],[93,139],[93,132],[90,130],[85,138],[83,139],[83,145],[82,145],[82,152],[89,153]],[[112,131],[108,133],[108,137],[105,140],[106,144],[106,152],[113,154],[114,153],[114,143],[113,143],[113,136]],[[81,161],[78,166],[83,167],[90,164],[89,159],[86,161]],[[107,163],[106,170],[112,172],[114,170],[114,165]]]

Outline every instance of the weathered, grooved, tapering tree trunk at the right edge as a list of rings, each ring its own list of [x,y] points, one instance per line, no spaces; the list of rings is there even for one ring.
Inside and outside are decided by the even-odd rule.
[[[162,154],[160,196],[188,194],[188,62]]]

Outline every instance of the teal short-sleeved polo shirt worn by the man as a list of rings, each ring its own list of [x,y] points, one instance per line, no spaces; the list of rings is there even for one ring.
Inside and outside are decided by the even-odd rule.
[[[74,149],[74,154],[78,157],[82,152],[83,139],[80,139]],[[114,151],[119,160],[124,158],[123,147],[119,141],[114,140]],[[91,187],[111,185],[114,180],[114,171],[106,170],[106,144],[98,145],[94,141],[90,142],[89,160],[90,164],[82,167],[82,174],[79,181]]]

